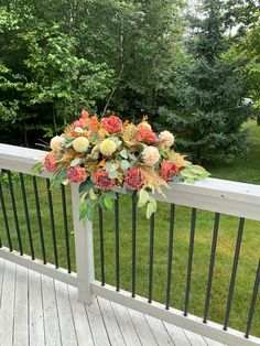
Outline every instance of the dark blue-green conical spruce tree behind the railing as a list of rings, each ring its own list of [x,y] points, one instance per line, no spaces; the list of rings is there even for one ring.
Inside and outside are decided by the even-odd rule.
[[[204,0],[191,21],[187,50],[191,62],[180,67],[173,96],[177,107],[161,108],[176,133],[177,147],[194,160],[231,160],[245,152],[241,123],[248,118],[245,83],[225,52],[221,1]],[[173,101],[173,102],[174,102]]]

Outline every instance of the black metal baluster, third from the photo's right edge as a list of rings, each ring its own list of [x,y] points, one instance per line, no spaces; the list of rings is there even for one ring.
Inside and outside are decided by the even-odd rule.
[[[209,309],[209,300],[212,293],[212,284],[213,284],[213,273],[214,273],[214,264],[215,264],[215,255],[216,255],[216,247],[217,247],[217,236],[218,236],[218,227],[219,227],[219,217],[220,214],[215,214],[215,221],[214,221],[214,231],[213,231],[213,241],[212,241],[212,253],[210,253],[210,262],[209,262],[209,270],[208,270],[208,280],[207,280],[207,293],[205,300],[205,309],[204,309],[204,318],[203,323],[207,323],[207,315]]]

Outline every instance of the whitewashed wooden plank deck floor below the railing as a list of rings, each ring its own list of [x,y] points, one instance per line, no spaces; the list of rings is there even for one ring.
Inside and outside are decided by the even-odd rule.
[[[221,345],[0,259],[0,346]]]

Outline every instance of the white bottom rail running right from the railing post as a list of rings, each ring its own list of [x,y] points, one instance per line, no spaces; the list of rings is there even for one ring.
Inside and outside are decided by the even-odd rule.
[[[123,290],[116,292],[115,286],[110,286],[108,284],[101,286],[98,281],[91,283],[91,292],[93,294],[105,298],[115,303],[172,323],[178,327],[201,334],[219,343],[232,346],[260,345],[260,338],[258,337],[250,336],[249,338],[245,338],[245,333],[232,328],[224,331],[223,325],[214,322],[207,322],[204,324],[202,318],[197,316],[191,314],[188,314],[188,316],[184,316],[182,311],[172,307],[170,307],[170,310],[165,310],[164,305],[155,302],[149,304],[148,300],[142,296],[136,295],[136,298],[132,298],[130,292]]]

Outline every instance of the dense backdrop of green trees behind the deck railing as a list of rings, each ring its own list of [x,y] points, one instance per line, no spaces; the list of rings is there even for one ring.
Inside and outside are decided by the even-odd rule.
[[[0,141],[48,142],[85,108],[149,115],[197,162],[245,153],[241,123],[259,111],[259,9],[197,3],[0,0]]]

